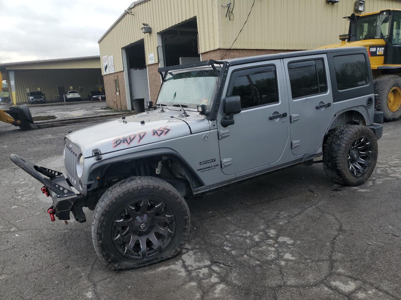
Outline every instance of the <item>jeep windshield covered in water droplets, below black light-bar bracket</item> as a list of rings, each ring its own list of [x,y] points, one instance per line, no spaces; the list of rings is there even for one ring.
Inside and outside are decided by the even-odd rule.
[[[209,109],[217,79],[212,68],[168,72],[156,104],[188,108],[205,104]]]

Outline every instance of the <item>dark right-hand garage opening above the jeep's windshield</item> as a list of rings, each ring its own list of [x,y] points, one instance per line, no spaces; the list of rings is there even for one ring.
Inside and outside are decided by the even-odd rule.
[[[165,66],[198,62],[198,26],[196,18],[161,33]]]

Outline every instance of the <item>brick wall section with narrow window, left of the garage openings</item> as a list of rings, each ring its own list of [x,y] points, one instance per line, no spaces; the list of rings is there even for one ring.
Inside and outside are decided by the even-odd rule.
[[[118,80],[119,95],[115,91],[114,79]],[[103,75],[104,90],[106,94],[107,106],[115,109],[127,110],[127,94],[125,90],[124,72],[115,72]]]

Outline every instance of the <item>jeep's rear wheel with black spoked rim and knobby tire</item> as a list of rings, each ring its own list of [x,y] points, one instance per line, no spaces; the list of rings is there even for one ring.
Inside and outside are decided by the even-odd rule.
[[[372,130],[362,125],[340,126],[330,132],[324,144],[324,172],[335,182],[358,186],[371,176],[377,153]]]

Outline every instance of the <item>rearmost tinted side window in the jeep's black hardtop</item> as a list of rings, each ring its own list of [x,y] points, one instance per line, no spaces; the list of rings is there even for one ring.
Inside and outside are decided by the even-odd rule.
[[[333,62],[338,90],[365,86],[369,83],[366,60],[363,54],[335,56]]]

